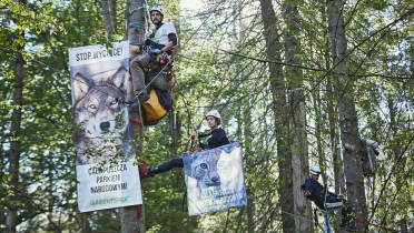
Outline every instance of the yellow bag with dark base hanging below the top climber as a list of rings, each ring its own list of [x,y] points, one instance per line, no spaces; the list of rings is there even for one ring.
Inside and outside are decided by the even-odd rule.
[[[146,115],[144,124],[154,125],[167,114],[167,110],[159,103],[157,92],[154,89],[149,93],[149,97],[150,99],[142,104]]]

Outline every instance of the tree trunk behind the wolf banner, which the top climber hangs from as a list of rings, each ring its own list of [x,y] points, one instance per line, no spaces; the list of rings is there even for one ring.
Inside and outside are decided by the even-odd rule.
[[[129,12],[132,10],[142,7],[144,0],[130,0],[129,1]],[[129,17],[129,22],[140,22],[145,23],[145,14],[144,14],[144,8],[135,11]],[[137,28],[130,28],[128,29],[128,41],[129,43],[139,43],[140,41],[145,40],[145,30],[137,29]],[[134,101],[134,87],[132,87],[132,78],[129,75],[128,81],[128,93],[127,93],[127,100]],[[136,120],[138,122],[141,122],[140,113],[132,112],[129,113],[129,119]],[[141,122],[142,123],[142,122]],[[138,126],[137,124],[131,124],[131,130],[134,132],[134,140],[137,140],[138,138],[144,136],[144,129]],[[136,148],[136,155],[142,156],[142,144],[139,143]],[[144,199],[142,199],[144,201]],[[142,213],[142,216],[138,214],[138,211]],[[122,209],[122,216],[121,216],[121,232],[122,233],[144,233],[145,230],[145,207],[144,203],[139,206],[128,206]]]

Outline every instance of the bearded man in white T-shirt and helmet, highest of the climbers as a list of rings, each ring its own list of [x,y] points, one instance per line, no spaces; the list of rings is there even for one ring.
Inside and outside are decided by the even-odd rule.
[[[134,83],[134,94],[137,104],[142,104],[149,100],[147,90],[145,90],[145,74],[142,68],[149,67],[151,59],[156,59],[157,55],[162,53],[170,54],[171,49],[177,45],[177,32],[172,23],[166,22],[162,23],[164,19],[164,9],[159,6],[155,6],[150,10],[150,18],[156,29],[150,34],[149,39],[145,41],[142,45],[129,45],[129,51],[135,53],[140,53],[144,50],[144,47],[150,45],[151,49],[148,51],[149,54],[141,54],[135,58],[129,65],[132,83]],[[155,70],[161,71],[165,68],[165,64],[158,65]],[[137,103],[138,102],[138,103]]]

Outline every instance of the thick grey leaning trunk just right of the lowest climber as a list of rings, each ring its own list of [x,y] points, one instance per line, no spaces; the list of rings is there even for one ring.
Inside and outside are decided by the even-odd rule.
[[[344,6],[342,0],[331,1],[328,4],[329,37],[336,78],[338,81],[337,93],[339,105],[341,141],[345,148],[344,165],[346,176],[346,190],[348,201],[354,213],[359,219],[366,219],[366,200],[364,190],[364,176],[362,173],[362,153],[358,140],[358,121],[353,99],[353,83],[348,78],[349,70],[346,69],[348,59],[347,42],[343,17]]]

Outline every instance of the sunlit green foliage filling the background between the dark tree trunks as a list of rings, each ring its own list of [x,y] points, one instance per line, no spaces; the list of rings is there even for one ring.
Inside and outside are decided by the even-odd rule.
[[[413,82],[414,38],[412,17],[390,30],[374,34],[411,9],[412,2],[351,1],[344,7],[348,39],[351,81],[357,110],[359,136],[375,139],[387,152],[378,161],[375,178],[365,179],[368,213],[384,226],[394,227],[402,219],[413,220]],[[179,22],[180,43],[207,18],[216,4],[205,2],[199,11],[184,11],[177,1],[149,1],[166,9],[165,21]],[[280,232],[279,185],[293,183],[292,176],[279,178],[280,154],[277,140],[288,142],[289,113],[275,115],[273,84],[282,80],[286,89],[303,83],[306,131],[312,163],[333,172],[332,134],[338,135],[337,112],[342,92],[334,75],[327,32],[326,6],[322,1],[300,1],[298,33],[300,77],[286,80],[270,77],[269,63],[230,55],[219,49],[262,60],[268,58],[263,19],[257,2],[226,1],[175,57],[175,110],[180,113],[180,134],[176,146],[169,132],[169,118],[146,129],[144,159],[151,166],[190,150],[189,120],[205,131],[204,114],[217,109],[230,141],[244,142],[244,171],[249,205],[240,209],[188,216],[183,170],[174,170],[142,181],[146,229],[148,232]],[[280,6],[274,6],[280,34],[288,30]],[[125,2],[118,1],[117,16],[124,16]],[[78,232],[83,215],[77,214],[76,162],[72,125],[71,80],[68,50],[73,45],[106,44],[122,39],[118,34],[98,33],[105,27],[99,1],[11,1],[0,2],[0,192],[2,211],[0,231],[4,229],[7,205],[19,207],[18,223],[24,232]],[[178,17],[181,16],[181,17]],[[85,43],[80,43],[86,40]],[[277,39],[274,39],[277,40]],[[278,38],[283,43],[284,38]],[[12,103],[14,55],[18,45],[24,55],[23,104]],[[355,50],[354,50],[355,49]],[[285,50],[282,48],[282,57]],[[47,68],[33,59],[52,67]],[[289,63],[290,61],[282,62]],[[55,70],[56,69],[56,70]],[[283,67],[283,73],[292,67]],[[285,97],[288,99],[290,97]],[[8,184],[11,112],[21,108],[22,123],[19,192]],[[120,120],[120,119],[117,119]],[[280,135],[283,134],[283,135]],[[132,142],[136,144],[138,142]],[[341,144],[341,143],[339,143]],[[167,152],[168,151],[168,152]],[[382,152],[383,152],[382,151]],[[334,161],[341,164],[341,161]],[[137,162],[138,163],[138,162]],[[348,169],[348,168],[345,168]],[[390,179],[386,183],[385,181]],[[333,181],[329,181],[333,183]],[[344,188],[343,184],[336,184]],[[381,191],[385,190],[383,194]],[[343,190],[346,191],[346,190]],[[10,203],[7,196],[14,195]],[[381,195],[381,196],[379,196]],[[184,206],[183,206],[184,202]],[[377,205],[377,207],[375,207]],[[374,210],[375,209],[375,210]],[[99,211],[99,215],[120,220],[121,210]],[[118,221],[86,214],[91,231],[120,231]],[[49,216],[50,219],[46,217]],[[321,220],[321,217],[319,217]],[[333,221],[337,225],[337,221]],[[55,224],[52,224],[55,223]],[[372,229],[374,230],[374,229]],[[319,231],[315,229],[315,231]]]

